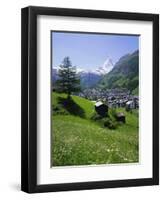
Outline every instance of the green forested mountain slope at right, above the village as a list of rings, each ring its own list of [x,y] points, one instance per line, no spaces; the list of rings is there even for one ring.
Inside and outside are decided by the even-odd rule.
[[[119,59],[114,68],[103,76],[100,88],[127,88],[138,94],[139,85],[139,51],[127,54]]]

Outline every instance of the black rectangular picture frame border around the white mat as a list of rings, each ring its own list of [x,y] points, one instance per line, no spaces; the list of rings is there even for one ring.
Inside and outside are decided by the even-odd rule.
[[[37,184],[37,16],[55,15],[153,23],[153,177]],[[21,190],[28,193],[159,184],[159,15],[30,6],[21,12]]]

